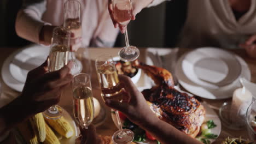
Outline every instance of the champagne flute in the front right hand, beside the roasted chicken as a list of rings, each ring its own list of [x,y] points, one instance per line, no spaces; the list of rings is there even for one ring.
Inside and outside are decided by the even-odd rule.
[[[124,88],[120,85],[113,58],[109,55],[100,56],[96,59],[95,66],[103,100],[122,102]],[[129,129],[123,129],[118,111],[115,111],[115,115],[119,130],[114,133],[113,141],[118,144],[131,143],[134,138],[133,132]]]

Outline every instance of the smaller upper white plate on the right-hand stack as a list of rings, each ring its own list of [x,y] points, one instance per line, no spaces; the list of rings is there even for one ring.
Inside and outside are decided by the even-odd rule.
[[[241,74],[241,64],[235,56],[215,47],[202,47],[184,56],[185,76],[202,87],[216,89],[229,85]]]

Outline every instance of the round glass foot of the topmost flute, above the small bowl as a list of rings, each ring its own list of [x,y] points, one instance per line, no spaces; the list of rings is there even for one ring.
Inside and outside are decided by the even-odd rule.
[[[118,55],[124,62],[135,61],[135,59],[137,59],[139,56],[139,49],[135,46],[130,46],[130,49],[127,49],[127,47],[123,47],[119,51]]]

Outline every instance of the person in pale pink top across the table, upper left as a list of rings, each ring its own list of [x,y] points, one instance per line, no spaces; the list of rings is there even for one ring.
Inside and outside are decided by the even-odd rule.
[[[16,17],[15,29],[19,37],[37,44],[49,45],[53,29],[63,25],[64,0],[24,0]],[[107,1],[82,0],[82,39],[71,42],[91,47],[112,47],[118,29],[114,29],[107,10]],[[78,47],[72,48],[73,51]]]

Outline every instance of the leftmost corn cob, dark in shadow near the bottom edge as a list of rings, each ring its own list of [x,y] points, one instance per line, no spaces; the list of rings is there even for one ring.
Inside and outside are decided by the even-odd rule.
[[[25,121],[18,124],[18,130],[19,130],[19,133],[22,135],[22,137],[25,139],[26,143],[28,144],[39,143],[37,140],[37,136],[36,134],[34,134],[34,131],[29,121]]]

